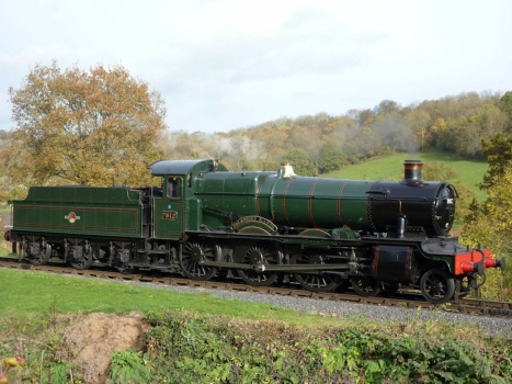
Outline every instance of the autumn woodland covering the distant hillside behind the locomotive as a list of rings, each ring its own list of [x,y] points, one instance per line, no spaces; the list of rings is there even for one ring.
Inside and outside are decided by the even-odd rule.
[[[175,132],[169,147],[174,157],[214,156],[234,170],[287,161],[317,176],[391,153],[436,149],[485,160],[481,140],[511,129],[512,92],[470,92],[408,106],[385,100],[338,116],[283,117],[213,135]]]

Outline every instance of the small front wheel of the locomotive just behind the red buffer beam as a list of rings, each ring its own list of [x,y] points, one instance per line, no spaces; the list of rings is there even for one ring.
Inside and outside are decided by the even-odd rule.
[[[442,304],[455,293],[455,281],[442,269],[428,270],[420,280],[420,290],[428,302]]]

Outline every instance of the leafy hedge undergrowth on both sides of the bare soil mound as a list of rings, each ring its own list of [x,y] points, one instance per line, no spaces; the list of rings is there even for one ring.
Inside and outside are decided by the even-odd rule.
[[[13,383],[83,383],[59,342],[64,325],[46,318],[0,323],[4,370]],[[147,315],[146,349],[114,352],[110,383],[508,383],[512,345],[475,325],[416,318],[296,326],[186,312]],[[337,323],[339,324],[339,323]],[[3,361],[3,360],[0,360]],[[1,373],[1,372],[0,372]]]

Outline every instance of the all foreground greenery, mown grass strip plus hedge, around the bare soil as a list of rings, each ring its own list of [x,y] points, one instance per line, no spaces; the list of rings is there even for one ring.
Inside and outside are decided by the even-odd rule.
[[[83,383],[64,313],[143,310],[141,350],[112,354],[111,383],[507,383],[512,347],[475,325],[411,312],[402,323],[333,319],[122,282],[0,269],[1,358],[14,382]],[[66,328],[67,329],[67,328]],[[80,331],[78,329],[77,331]]]

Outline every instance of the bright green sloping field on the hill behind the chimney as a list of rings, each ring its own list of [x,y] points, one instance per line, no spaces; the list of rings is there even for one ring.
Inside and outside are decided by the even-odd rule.
[[[487,162],[462,159],[447,153],[429,151],[390,155],[355,166],[348,166],[341,170],[322,174],[322,177],[359,180],[400,180],[403,178],[402,163],[405,160],[421,160],[424,165],[443,163],[458,174],[454,180],[444,181],[453,183],[455,188],[465,185],[475,192],[479,201],[486,197],[486,193],[478,189],[478,184],[482,181],[488,169]]]

